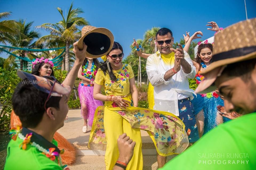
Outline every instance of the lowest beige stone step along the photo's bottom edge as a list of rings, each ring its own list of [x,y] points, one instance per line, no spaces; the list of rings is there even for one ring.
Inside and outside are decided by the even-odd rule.
[[[176,155],[167,156],[167,161]],[[68,166],[70,170],[105,170],[104,156],[77,156],[76,162]],[[156,155],[143,155],[143,170],[158,168]]]

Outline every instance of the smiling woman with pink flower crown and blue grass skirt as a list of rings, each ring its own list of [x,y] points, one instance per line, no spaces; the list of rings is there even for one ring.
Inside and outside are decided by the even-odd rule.
[[[218,27],[217,23],[209,22],[207,26],[211,26],[210,30],[220,31],[221,28]],[[203,36],[201,31],[195,32],[191,37],[187,33],[187,43],[184,47],[185,51],[189,50],[189,46],[192,40],[198,39],[198,35]],[[184,36],[185,37],[185,36]],[[198,43],[197,56],[194,59],[194,66],[196,67],[197,74],[195,76],[196,84],[199,84],[203,80],[203,76],[200,73],[211,64],[213,56],[213,44],[209,43],[208,40]],[[207,133],[209,130],[213,129],[215,126],[228,121],[228,118],[223,118],[219,112],[217,106],[223,106],[223,100],[219,95],[213,91],[207,94],[197,94],[191,102],[194,105],[194,113],[197,115],[197,126],[199,131],[199,136]]]

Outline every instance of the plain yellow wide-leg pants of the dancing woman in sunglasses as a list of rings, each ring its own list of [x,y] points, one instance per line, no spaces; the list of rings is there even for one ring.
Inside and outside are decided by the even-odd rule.
[[[122,118],[121,115],[110,111],[107,107],[104,109],[104,128],[107,138],[107,149],[105,154],[106,170],[112,170],[119,157],[117,139],[119,135],[126,133],[133,141],[136,142],[133,157],[127,165],[127,170],[142,170],[142,141],[141,131],[132,128],[129,122]]]

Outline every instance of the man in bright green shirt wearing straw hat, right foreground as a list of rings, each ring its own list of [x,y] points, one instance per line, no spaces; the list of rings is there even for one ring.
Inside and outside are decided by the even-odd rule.
[[[227,112],[241,117],[219,125],[169,161],[169,169],[256,169],[256,18],[214,37],[213,63],[196,92],[219,89]]]

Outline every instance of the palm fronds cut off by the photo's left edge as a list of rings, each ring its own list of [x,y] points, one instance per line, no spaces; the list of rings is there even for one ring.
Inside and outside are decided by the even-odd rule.
[[[7,18],[11,12],[0,12],[0,20]],[[6,44],[5,35],[14,33],[17,24],[14,20],[3,20],[0,22],[0,42]]]

